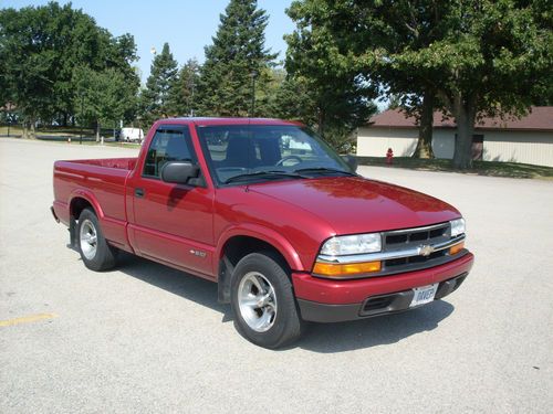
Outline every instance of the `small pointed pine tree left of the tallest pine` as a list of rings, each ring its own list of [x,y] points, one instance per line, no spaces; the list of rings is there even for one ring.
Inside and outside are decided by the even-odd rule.
[[[160,54],[152,63],[150,74],[146,82],[146,89],[142,94],[142,109],[146,121],[156,118],[167,118],[175,115],[170,106],[170,91],[177,79],[178,65],[165,43]]]

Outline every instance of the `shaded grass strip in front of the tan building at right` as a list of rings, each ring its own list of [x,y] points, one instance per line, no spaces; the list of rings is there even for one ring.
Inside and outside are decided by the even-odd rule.
[[[357,157],[357,161],[359,166],[386,166],[385,157]],[[472,169],[458,170],[453,168],[451,160],[421,160],[410,157],[394,157],[394,164],[392,168],[406,168],[411,170],[426,171],[451,171],[492,177],[538,178],[553,180],[552,167],[532,166],[529,163],[517,162],[474,161]]]

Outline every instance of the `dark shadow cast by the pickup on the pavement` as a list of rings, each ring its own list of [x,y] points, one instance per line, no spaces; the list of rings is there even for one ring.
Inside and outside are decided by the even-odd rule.
[[[217,285],[212,282],[126,253],[121,254],[117,270],[218,311],[223,323],[233,319],[230,306],[217,301]],[[281,351],[301,348],[335,353],[395,343],[436,329],[453,309],[451,304],[437,300],[397,315],[341,323],[307,323],[303,338]]]

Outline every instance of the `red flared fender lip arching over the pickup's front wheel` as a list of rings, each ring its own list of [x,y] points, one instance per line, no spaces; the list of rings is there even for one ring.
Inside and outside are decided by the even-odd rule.
[[[291,269],[300,272],[305,270],[305,266],[301,262],[300,255],[292,246],[292,244],[290,244],[290,242],[281,234],[279,234],[274,230],[258,224],[242,223],[240,225],[228,227],[219,237],[215,256],[216,259],[213,259],[215,275],[218,274],[217,266],[219,266],[219,261],[222,257],[222,247],[228,242],[228,240],[233,236],[250,236],[269,243],[274,248],[276,248],[280,254],[282,254]]]

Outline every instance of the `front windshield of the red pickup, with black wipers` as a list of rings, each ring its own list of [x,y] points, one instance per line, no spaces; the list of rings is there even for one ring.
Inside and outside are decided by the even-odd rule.
[[[218,184],[353,174],[347,163],[306,128],[217,125],[197,130]]]

